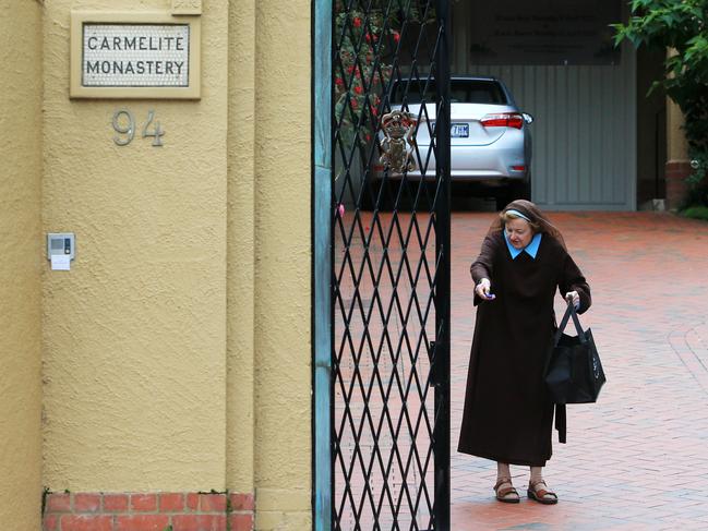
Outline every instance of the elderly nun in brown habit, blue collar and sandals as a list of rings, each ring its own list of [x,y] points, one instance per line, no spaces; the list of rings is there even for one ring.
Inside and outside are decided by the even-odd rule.
[[[555,333],[556,291],[578,313],[590,287],[563,236],[531,202],[509,203],[492,222],[470,267],[477,319],[458,451],[496,461],[496,499],[518,503],[511,464],[530,468],[527,496],[557,503],[543,479],[551,458],[554,403],[543,382]],[[556,411],[565,442],[565,410]]]

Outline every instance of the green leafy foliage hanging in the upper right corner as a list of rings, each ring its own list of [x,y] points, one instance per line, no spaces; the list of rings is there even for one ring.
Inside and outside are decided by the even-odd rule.
[[[626,24],[613,24],[615,45],[672,49],[664,61],[662,87],[685,117],[692,158],[692,189],[705,186],[708,168],[708,0],[633,0]],[[708,198],[703,200],[708,205]]]

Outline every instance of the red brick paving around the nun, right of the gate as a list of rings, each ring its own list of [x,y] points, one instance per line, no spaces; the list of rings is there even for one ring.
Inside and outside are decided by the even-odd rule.
[[[708,529],[708,224],[669,214],[551,214],[592,288],[608,384],[568,407],[547,467],[561,502],[494,500],[492,461],[457,454],[475,312],[469,264],[492,214],[453,217],[454,531]],[[559,309],[562,306],[559,299]],[[554,442],[556,438],[554,437]]]

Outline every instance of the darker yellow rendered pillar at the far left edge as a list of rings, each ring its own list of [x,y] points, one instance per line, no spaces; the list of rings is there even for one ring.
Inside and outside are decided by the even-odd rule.
[[[41,504],[41,8],[0,0],[0,522]]]

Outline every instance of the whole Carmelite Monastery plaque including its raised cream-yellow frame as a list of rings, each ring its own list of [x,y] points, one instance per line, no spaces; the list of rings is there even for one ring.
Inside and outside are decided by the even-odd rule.
[[[199,98],[199,19],[72,13],[72,98]]]

